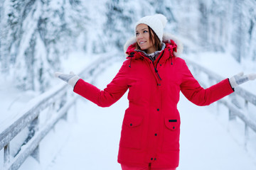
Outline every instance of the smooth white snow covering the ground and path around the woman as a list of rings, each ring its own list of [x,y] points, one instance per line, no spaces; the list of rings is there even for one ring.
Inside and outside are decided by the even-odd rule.
[[[251,71],[241,68],[226,54],[205,52],[183,57],[203,64],[223,77],[230,77],[241,70]],[[73,62],[68,61],[65,72],[74,65],[76,67],[73,70],[78,72],[85,63],[88,64],[88,60],[83,57]],[[117,62],[108,66],[106,71],[97,77],[97,87],[104,89],[121,65],[122,62]],[[254,91],[255,83],[247,83],[244,85],[245,89]],[[18,102],[18,96],[23,94],[9,89],[8,86],[5,88],[1,86],[0,89],[1,95],[6,98],[2,99],[1,103],[6,102],[6,111],[9,109],[12,113],[18,112],[23,104]],[[26,94],[28,98],[29,95],[35,95],[29,92]],[[75,109],[76,114],[73,113],[74,109],[70,109],[68,122],[61,120],[41,142],[41,163],[38,164],[33,158],[28,157],[20,169],[120,169],[117,151],[122,118],[127,106],[127,94],[110,108],[100,108],[80,98]],[[239,120],[229,122],[228,111],[224,107],[220,106],[217,113],[215,104],[208,107],[194,106],[181,95],[178,108],[181,113],[181,160],[178,169],[256,169],[255,133],[250,132],[246,150],[243,123]],[[4,123],[6,120],[1,119],[1,122]],[[2,164],[3,151],[0,154]]]

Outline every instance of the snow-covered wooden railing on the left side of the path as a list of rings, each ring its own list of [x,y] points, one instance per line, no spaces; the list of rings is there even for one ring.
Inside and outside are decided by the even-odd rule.
[[[119,60],[118,55],[102,55],[95,62],[80,72],[80,77],[92,82],[98,74],[107,68],[114,60]],[[18,118],[10,125],[0,131],[0,150],[4,148],[3,169],[18,169],[30,155],[39,162],[39,145],[41,140],[54,128],[59,120],[67,119],[68,111],[75,102],[78,95],[74,95],[68,84],[62,83],[55,88],[31,100],[26,110],[20,113]],[[50,112],[50,118],[43,125],[39,125],[39,119],[44,111]],[[22,130],[28,128],[28,137],[18,149],[14,157],[10,154],[10,142]],[[1,169],[1,168],[0,168]]]

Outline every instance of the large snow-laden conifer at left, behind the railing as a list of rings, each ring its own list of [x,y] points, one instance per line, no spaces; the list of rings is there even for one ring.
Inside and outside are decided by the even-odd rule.
[[[1,72],[24,90],[45,91],[60,58],[75,49],[87,20],[81,1],[5,1]],[[84,17],[84,18],[83,18]],[[83,19],[81,19],[83,18]]]

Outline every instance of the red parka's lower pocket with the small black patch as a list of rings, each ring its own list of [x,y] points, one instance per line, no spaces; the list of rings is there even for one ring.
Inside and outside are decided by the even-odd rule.
[[[180,121],[176,118],[165,118],[163,152],[179,150]]]

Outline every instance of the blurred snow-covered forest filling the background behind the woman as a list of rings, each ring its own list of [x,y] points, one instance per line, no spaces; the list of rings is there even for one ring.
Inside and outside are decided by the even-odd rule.
[[[255,0],[1,0],[0,76],[24,91],[46,91],[62,61],[75,57],[70,52],[122,50],[134,23],[154,13],[168,18],[166,32],[193,44],[185,52],[230,52],[256,70],[255,6]]]

